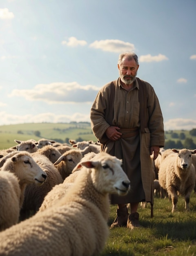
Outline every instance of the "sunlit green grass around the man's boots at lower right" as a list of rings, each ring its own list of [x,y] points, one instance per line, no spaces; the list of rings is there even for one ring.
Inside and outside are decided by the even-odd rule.
[[[179,197],[178,211],[171,213],[168,198],[154,199],[154,217],[151,207],[138,208],[139,229],[125,227],[110,229],[101,256],[194,256],[196,255],[196,195],[190,198],[190,211],[185,211],[183,197]],[[111,205],[110,226],[116,217],[116,205]]]

